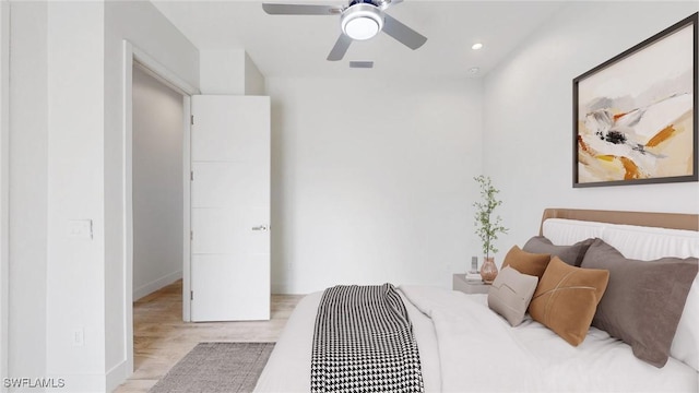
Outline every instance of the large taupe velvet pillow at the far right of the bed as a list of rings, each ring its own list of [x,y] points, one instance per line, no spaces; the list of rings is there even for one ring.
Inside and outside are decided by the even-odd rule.
[[[626,259],[596,239],[582,267],[608,270],[609,285],[592,325],[629,344],[637,358],[665,366],[697,264],[696,258]]]

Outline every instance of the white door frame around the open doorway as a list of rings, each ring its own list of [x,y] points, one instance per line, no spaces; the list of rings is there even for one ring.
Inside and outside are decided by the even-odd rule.
[[[2,0],[0,0],[2,1]],[[185,294],[190,291],[190,134],[191,96],[199,88],[190,85],[179,75],[168,70],[147,52],[129,40],[123,40],[123,310],[127,370],[133,372],[133,67],[137,66],[163,84],[182,95],[182,319],[190,320],[190,303]]]

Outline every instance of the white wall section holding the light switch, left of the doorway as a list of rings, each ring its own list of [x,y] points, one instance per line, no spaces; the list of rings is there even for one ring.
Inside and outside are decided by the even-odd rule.
[[[48,2],[47,26],[46,374],[81,391],[105,373],[104,4]],[[71,219],[93,238],[70,237]]]

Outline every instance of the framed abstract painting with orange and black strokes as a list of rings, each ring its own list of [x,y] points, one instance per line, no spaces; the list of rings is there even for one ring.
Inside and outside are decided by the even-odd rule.
[[[697,181],[697,24],[573,80],[573,187]]]

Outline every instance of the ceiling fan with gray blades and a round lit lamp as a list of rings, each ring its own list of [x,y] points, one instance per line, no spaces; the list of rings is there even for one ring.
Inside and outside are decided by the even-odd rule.
[[[369,39],[379,32],[395,38],[415,50],[427,38],[399,22],[384,11],[403,0],[352,0],[348,5],[268,4],[262,9],[270,15],[340,15],[342,34],[328,55],[328,60],[337,61],[347,52],[353,40]]]

